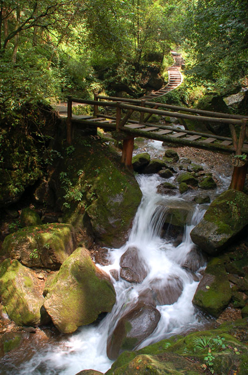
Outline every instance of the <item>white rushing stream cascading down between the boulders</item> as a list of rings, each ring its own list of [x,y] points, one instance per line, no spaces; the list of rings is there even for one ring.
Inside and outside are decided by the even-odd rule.
[[[147,151],[152,157],[163,153],[162,142],[148,142]],[[220,183],[218,190],[211,190],[211,200],[229,184],[229,179],[225,176],[216,177]],[[79,328],[74,334],[49,337],[43,343],[35,340],[27,342],[19,349],[17,356],[16,352],[5,355],[1,361],[1,374],[75,375],[82,369],[90,368],[106,372],[113,363],[106,355],[109,334],[114,330],[120,316],[130,310],[139,296],[151,288],[163,290],[169,287],[173,294],[182,285],[182,292],[174,303],[156,306],[161,318],[154,331],[138,348],[174,334],[201,329],[206,322],[196,313],[191,302],[202,277],[201,271],[205,267],[203,257],[200,254],[194,259],[196,263],[199,262],[195,266],[195,273],[182,266],[189,260],[191,250],[195,247],[190,238],[190,231],[203,217],[207,205],[191,204],[191,222],[184,229],[181,243],[176,245],[175,240],[172,240],[166,231],[161,237],[166,207],[175,202],[179,205],[191,203],[196,191],[190,190],[183,195],[179,192],[174,196],[161,195],[157,193],[156,186],[163,181],[173,183],[174,177],[165,179],[158,174],[140,174],[136,178],[143,198],[129,239],[123,247],[109,249],[110,265],[98,266],[108,273],[111,269],[119,272],[121,256],[128,248],[136,247],[140,259],[146,264],[147,276],[141,283],[130,283],[122,278],[117,281],[111,276],[116,290],[116,303],[111,313],[97,323]]]

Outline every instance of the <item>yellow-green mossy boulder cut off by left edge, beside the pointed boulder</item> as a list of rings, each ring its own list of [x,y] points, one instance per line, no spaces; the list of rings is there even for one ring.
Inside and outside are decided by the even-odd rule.
[[[37,326],[49,320],[38,279],[18,260],[8,258],[0,264],[0,296],[8,316],[18,325]]]

